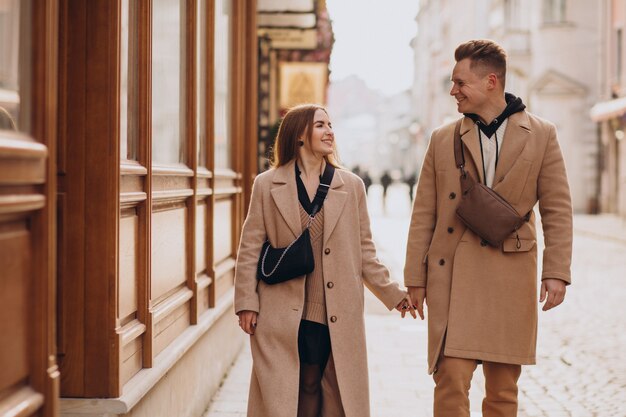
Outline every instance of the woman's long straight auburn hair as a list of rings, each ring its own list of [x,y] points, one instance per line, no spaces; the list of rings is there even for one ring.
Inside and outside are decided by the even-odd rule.
[[[278,127],[278,134],[274,139],[274,146],[272,147],[272,157],[270,159],[272,168],[287,165],[298,157],[298,149],[300,148],[298,140],[305,131],[305,140],[309,143],[311,142],[315,112],[318,110],[323,110],[328,114],[326,108],[318,104],[300,104],[292,107],[285,114]],[[341,168],[337,148],[334,148],[333,153],[326,155],[324,159],[332,166]]]

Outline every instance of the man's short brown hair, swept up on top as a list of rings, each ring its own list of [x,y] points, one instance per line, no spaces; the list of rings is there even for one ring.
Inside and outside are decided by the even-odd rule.
[[[469,58],[470,68],[496,74],[502,87],[506,81],[506,51],[489,39],[475,39],[460,44],[454,51],[456,62]],[[478,68],[477,68],[478,67]]]

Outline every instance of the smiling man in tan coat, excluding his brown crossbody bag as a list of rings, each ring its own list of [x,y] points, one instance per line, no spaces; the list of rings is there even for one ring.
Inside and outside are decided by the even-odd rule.
[[[455,51],[450,95],[461,123],[465,170],[529,220],[492,247],[456,216],[462,199],[454,158],[456,122],[432,134],[418,182],[407,245],[405,285],[424,317],[435,417],[469,417],[477,364],[485,374],[484,417],[517,415],[521,365],[535,363],[537,293],[547,311],[570,283],[572,208],[551,123],[504,93],[506,53],[489,40]],[[544,232],[541,289],[533,207]]]

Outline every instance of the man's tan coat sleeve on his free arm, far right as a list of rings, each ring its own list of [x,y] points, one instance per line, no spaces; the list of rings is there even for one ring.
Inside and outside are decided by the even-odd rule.
[[[572,201],[565,162],[556,138],[556,128],[549,127],[548,144],[537,182],[537,197],[545,248],[541,279],[557,278],[571,283]]]

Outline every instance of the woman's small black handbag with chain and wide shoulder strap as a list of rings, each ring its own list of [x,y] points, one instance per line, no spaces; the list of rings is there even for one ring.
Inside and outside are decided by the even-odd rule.
[[[309,227],[315,215],[324,204],[334,174],[335,167],[327,163],[324,175],[313,198],[313,209],[311,210],[309,221],[300,236],[286,248],[275,248],[270,244],[269,240],[263,243],[257,265],[257,279],[272,285],[313,272],[315,262]]]

